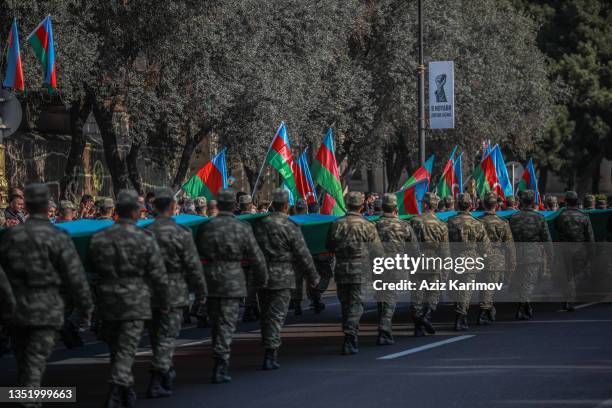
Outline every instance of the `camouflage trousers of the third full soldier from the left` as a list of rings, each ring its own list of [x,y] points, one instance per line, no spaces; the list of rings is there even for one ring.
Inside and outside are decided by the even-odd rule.
[[[172,308],[168,313],[161,313],[158,309],[153,311],[153,318],[148,323],[153,360],[151,366],[161,373],[172,367],[174,346],[181,332],[183,310]]]

